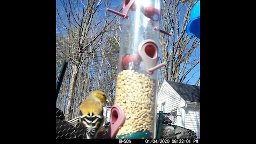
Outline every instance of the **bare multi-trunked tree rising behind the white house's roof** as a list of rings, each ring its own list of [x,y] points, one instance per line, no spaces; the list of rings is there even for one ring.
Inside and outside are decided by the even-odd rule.
[[[161,62],[166,62],[166,66],[160,70],[160,83],[163,79],[189,83],[194,73],[199,71],[195,70],[195,67],[200,63],[198,47],[200,39],[186,33],[190,13],[196,2],[196,0],[187,3],[181,3],[181,0],[162,2],[161,24],[163,30],[168,31],[171,36],[161,35],[160,39],[162,55],[159,59]],[[196,83],[199,83],[199,79]]]

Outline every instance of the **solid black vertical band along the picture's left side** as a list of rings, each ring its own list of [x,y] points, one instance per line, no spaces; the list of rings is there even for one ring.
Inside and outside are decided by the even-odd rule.
[[[54,140],[55,1],[10,1],[2,8],[4,138]]]

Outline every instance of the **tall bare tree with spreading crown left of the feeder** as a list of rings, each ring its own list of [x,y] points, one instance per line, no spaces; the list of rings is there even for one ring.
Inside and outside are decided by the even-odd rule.
[[[69,70],[71,71],[65,119],[72,117],[71,113],[75,110],[71,108],[78,107],[77,100],[82,100],[82,98],[74,97],[75,95],[78,97],[80,94],[76,87],[83,85],[81,81],[85,82],[87,79],[79,78],[82,75],[78,73],[82,72],[81,67],[88,68],[89,58],[104,43],[104,34],[108,31],[111,21],[114,20],[114,18],[109,19],[110,16],[106,9],[101,9],[101,7],[109,6],[110,1],[107,0],[60,0],[57,3],[56,25],[57,31],[62,34],[57,37],[57,44],[60,53],[69,61]],[[84,65],[84,63],[86,64]],[[85,77],[87,78],[86,74]],[[79,79],[79,83],[77,83],[77,79]]]

